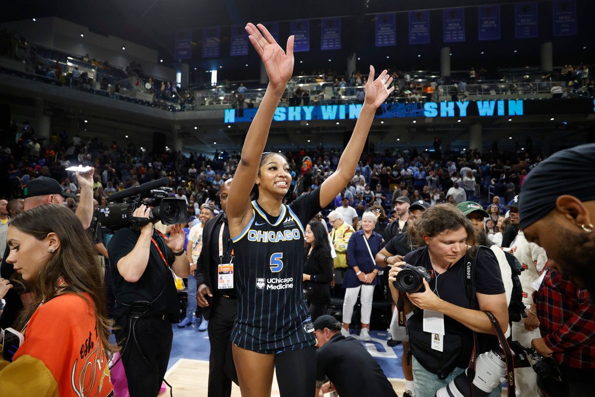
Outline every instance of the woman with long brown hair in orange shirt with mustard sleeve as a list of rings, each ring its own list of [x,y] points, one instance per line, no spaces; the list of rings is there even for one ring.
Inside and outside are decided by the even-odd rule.
[[[117,348],[108,340],[104,268],[89,233],[73,211],[47,204],[13,218],[7,239],[7,262],[33,302],[15,326],[24,342],[12,362],[0,358],[2,395],[111,396],[108,358]],[[0,298],[6,290],[0,279]]]

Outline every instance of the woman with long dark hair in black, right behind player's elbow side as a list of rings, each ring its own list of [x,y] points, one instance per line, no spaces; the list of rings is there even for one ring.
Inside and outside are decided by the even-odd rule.
[[[309,301],[312,322],[325,314],[331,298],[330,282],[333,281],[333,257],[328,243],[327,229],[319,220],[309,221],[305,230],[303,290]]]

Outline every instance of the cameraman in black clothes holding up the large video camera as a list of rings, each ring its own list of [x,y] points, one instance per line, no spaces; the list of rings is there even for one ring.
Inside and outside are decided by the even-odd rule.
[[[148,218],[151,209],[140,205],[133,217]],[[169,236],[152,223],[135,230],[118,230],[108,253],[116,298],[115,332],[131,397],[159,393],[170,358],[171,323],[180,321],[180,304],[171,272],[187,277],[184,231],[173,226]]]

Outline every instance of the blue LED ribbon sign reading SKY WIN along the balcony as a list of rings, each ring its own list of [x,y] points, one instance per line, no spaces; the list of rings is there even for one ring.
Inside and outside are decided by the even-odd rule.
[[[226,109],[225,123],[252,121],[255,108],[243,109],[238,115],[235,109]],[[355,120],[362,110],[361,104],[322,105],[322,106],[290,106],[278,107],[273,116],[274,121],[309,121],[309,120]],[[523,115],[523,100],[493,101],[444,101],[444,102],[411,102],[408,104],[382,104],[376,112],[376,118],[407,117],[494,117]]]

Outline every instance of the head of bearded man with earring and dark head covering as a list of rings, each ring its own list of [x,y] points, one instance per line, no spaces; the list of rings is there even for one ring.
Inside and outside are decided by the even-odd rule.
[[[595,143],[540,162],[522,186],[519,226],[549,267],[595,296]]]

